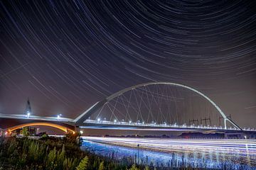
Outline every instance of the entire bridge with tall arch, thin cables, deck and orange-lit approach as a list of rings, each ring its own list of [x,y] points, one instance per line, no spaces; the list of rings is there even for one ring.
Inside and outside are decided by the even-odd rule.
[[[159,108],[159,113],[156,114],[162,114],[161,113],[161,103],[160,101],[163,100],[169,100],[169,102],[174,102],[174,105],[177,105],[177,102],[181,102],[183,98],[178,98],[175,96],[169,96],[168,94],[176,94],[178,91],[168,91],[166,88],[164,89],[164,93],[160,94],[159,91],[161,89],[154,89],[154,91],[149,91],[148,86],[158,86],[158,85],[164,85],[164,86],[176,86],[181,89],[186,89],[188,91],[191,91],[194,94],[197,94],[201,98],[203,98],[205,101],[210,103],[210,105],[215,109],[215,111],[218,112],[218,116],[223,120],[223,127],[221,125],[194,125],[189,122],[190,125],[178,124],[178,123],[166,123],[166,121],[162,121],[162,123],[157,123],[156,121],[147,121],[144,122],[144,118],[139,121],[139,116],[142,117],[142,111],[139,110],[142,107],[142,103],[145,104],[145,108],[149,109],[149,113],[151,114],[151,117],[154,118],[154,115],[152,113],[151,104],[156,103],[156,106]],[[122,98],[122,95],[127,94],[128,92],[131,92],[128,98]],[[136,94],[142,93],[142,96],[136,97]],[[193,97],[192,95],[192,97]],[[131,96],[135,96],[134,101],[137,102],[138,111],[136,110],[136,106],[131,106]],[[149,96],[150,98],[149,100]],[[146,99],[144,100],[143,97]],[[155,97],[155,98],[154,98]],[[119,99],[119,98],[122,98]],[[140,99],[139,99],[140,98]],[[138,99],[138,100],[137,100]],[[120,101],[119,101],[120,100]],[[147,100],[147,101],[146,101]],[[157,101],[158,100],[158,101]],[[111,101],[114,101],[114,106],[110,108],[108,105]],[[117,119],[116,114],[114,111],[117,111],[118,108],[116,108],[116,105],[120,104],[121,101],[123,102],[124,106],[124,112],[129,112],[129,107],[133,109],[134,111],[137,111],[137,120],[132,122],[131,119],[127,122],[127,115],[125,115],[124,119]],[[124,101],[127,101],[127,105],[125,105]],[[148,102],[148,103],[146,103]],[[169,105],[171,103],[168,103]],[[95,120],[90,119],[90,116],[95,114],[97,111],[102,111],[103,107],[108,106],[110,108],[110,111],[112,111],[112,115],[110,117],[110,120],[101,120],[99,117],[97,117]],[[177,110],[177,108],[176,108]],[[98,113],[98,115],[100,114]],[[119,114],[122,115],[122,112],[119,111]],[[176,113],[177,115],[177,113]],[[113,118],[112,118],[113,116]],[[129,113],[128,113],[129,116]],[[157,115],[159,116],[159,115]],[[162,115],[161,115],[162,116]],[[163,116],[162,116],[163,118]],[[149,117],[148,117],[149,120]],[[171,117],[170,117],[171,120]],[[206,120],[206,118],[204,119]],[[228,128],[227,123],[230,123],[233,127]],[[21,114],[21,115],[7,115],[7,114],[0,114],[0,128],[3,131],[11,132],[13,130],[16,130],[18,128],[23,128],[26,126],[35,126],[35,125],[45,125],[50,126],[54,128],[58,128],[60,130],[63,130],[64,132],[80,132],[81,128],[95,128],[95,129],[118,129],[118,130],[162,130],[162,131],[182,131],[182,132],[255,132],[255,129],[250,128],[240,128],[238,124],[236,124],[233,120],[231,120],[230,117],[226,116],[225,113],[220,109],[220,107],[208,96],[203,94],[201,91],[198,91],[197,89],[194,89],[190,86],[186,86],[183,84],[176,84],[171,82],[149,82],[144,84],[137,84],[135,86],[130,86],[126,89],[123,89],[121,91],[117,91],[117,93],[114,93],[107,98],[104,98],[102,101],[96,102],[94,105],[92,105],[90,108],[88,108],[85,112],[78,115],[77,118],[71,119],[71,118],[63,118],[59,115],[57,117],[42,117],[42,116],[36,116],[31,115],[31,113],[27,114]]]

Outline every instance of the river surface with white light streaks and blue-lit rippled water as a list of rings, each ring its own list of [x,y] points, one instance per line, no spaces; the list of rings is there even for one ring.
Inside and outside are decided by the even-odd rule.
[[[165,159],[166,162],[170,160],[170,155],[162,154],[161,152],[166,153],[178,153],[175,156],[177,161],[180,161],[181,158],[187,161],[196,162],[199,159],[203,159],[203,164],[195,164],[200,167],[206,166],[206,162],[208,162],[207,167],[203,167],[203,169],[216,169],[213,167],[218,167],[218,165],[223,164],[223,162],[228,161],[228,164],[235,165],[233,169],[240,169],[238,164],[242,162],[242,169],[245,167],[245,164],[254,165],[255,164],[255,152],[256,152],[256,141],[255,140],[213,140],[213,139],[202,139],[202,140],[185,140],[185,139],[156,139],[156,138],[134,138],[134,137],[81,137],[85,143],[92,142],[92,146],[95,146],[95,150],[101,149],[102,147],[97,148],[97,145],[106,144],[106,148],[112,148],[111,145],[127,147],[121,151],[124,154],[127,152],[132,152],[132,154],[136,154],[136,152],[143,151],[143,155],[149,155],[149,159],[156,159],[159,157],[159,160]],[[139,145],[138,145],[139,144]],[[130,149],[132,148],[132,149]],[[137,150],[140,149],[140,150]],[[156,151],[156,153],[145,153],[146,149],[149,149],[149,152]],[[145,151],[145,152],[144,152]],[[157,153],[158,152],[158,153]],[[102,152],[101,152],[102,153]],[[104,152],[105,153],[105,152]],[[181,154],[180,154],[181,153]],[[186,155],[185,157],[181,155]],[[131,155],[132,155],[131,154]],[[143,157],[140,154],[140,157]],[[163,157],[161,157],[163,156]],[[164,158],[165,157],[165,158]],[[175,159],[176,159],[175,158]],[[238,158],[238,159],[236,159]],[[241,159],[240,159],[241,158]],[[174,159],[174,157],[171,157]],[[205,162],[206,160],[206,162]],[[239,163],[238,163],[239,162]],[[221,165],[223,166],[223,165]],[[248,166],[248,169],[253,169],[252,166]],[[250,168],[252,167],[252,168]],[[220,169],[220,168],[219,168]]]

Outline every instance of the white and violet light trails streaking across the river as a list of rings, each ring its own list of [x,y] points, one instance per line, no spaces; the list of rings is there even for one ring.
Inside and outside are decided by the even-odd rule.
[[[82,139],[133,148],[137,148],[139,144],[141,149],[157,152],[205,154],[208,159],[215,155],[214,159],[224,161],[243,157],[242,162],[256,166],[256,140],[182,140],[125,137],[82,137]]]

